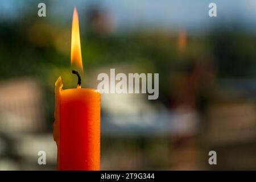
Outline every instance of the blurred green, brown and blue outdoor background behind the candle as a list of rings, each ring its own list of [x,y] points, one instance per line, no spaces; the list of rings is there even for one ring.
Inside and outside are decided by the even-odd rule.
[[[102,94],[102,170],[256,169],[256,2],[215,0],[213,18],[210,2],[0,0],[0,169],[56,169],[54,88],[60,75],[76,87],[74,6],[84,88],[110,68],[159,73],[158,100]]]

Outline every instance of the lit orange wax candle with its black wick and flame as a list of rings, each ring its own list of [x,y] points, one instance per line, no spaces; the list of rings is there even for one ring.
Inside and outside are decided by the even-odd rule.
[[[72,23],[71,63],[82,71],[79,21],[75,9]],[[79,76],[78,72],[73,72]],[[63,89],[55,83],[55,122],[58,170],[100,170],[100,101],[97,89]]]

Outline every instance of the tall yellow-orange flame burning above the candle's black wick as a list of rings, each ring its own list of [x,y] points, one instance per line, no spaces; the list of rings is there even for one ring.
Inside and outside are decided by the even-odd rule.
[[[82,67],[82,54],[81,54],[80,31],[79,31],[79,16],[77,14],[76,7],[74,9],[73,20],[72,20],[71,67],[80,69],[80,71],[82,73],[84,72],[84,68]]]

